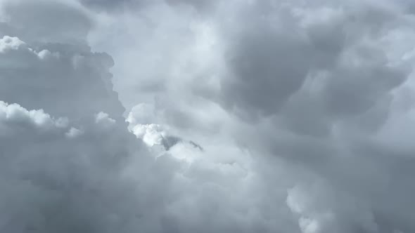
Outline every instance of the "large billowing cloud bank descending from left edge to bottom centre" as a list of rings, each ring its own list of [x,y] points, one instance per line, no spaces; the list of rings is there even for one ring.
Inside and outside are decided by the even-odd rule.
[[[45,9],[72,9],[53,4]],[[20,16],[9,16],[4,23],[16,27]],[[53,27],[48,36],[15,32],[1,38],[0,59],[10,62],[0,67],[1,231],[252,232],[286,220],[265,219],[277,215],[262,210],[270,199],[257,195],[268,187],[256,161],[226,140],[202,151],[189,135],[155,157],[127,130],[113,59],[92,52],[84,34],[65,41]],[[275,208],[289,213],[285,194],[278,199]]]

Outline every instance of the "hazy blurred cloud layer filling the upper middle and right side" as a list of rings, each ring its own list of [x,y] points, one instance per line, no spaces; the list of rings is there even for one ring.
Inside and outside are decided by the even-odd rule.
[[[135,124],[248,149],[269,177],[267,165],[290,164],[287,186],[315,195],[294,232],[414,230],[408,1],[215,1],[202,14],[180,2],[109,15],[124,49],[99,39],[105,26],[91,39],[121,61],[127,109],[151,106]]]

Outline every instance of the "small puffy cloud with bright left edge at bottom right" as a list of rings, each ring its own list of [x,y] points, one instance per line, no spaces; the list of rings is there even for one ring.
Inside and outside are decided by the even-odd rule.
[[[298,225],[303,233],[379,231],[368,206],[324,187],[324,182],[289,189],[287,204],[293,213],[300,215]]]

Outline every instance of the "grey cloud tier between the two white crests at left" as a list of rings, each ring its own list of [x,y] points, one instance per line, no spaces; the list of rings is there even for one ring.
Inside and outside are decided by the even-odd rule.
[[[56,116],[106,111],[120,119],[124,108],[112,90],[108,69],[113,60],[106,53],[70,44],[30,47],[15,36],[4,36],[0,44],[0,80],[6,83],[0,87],[1,100]]]

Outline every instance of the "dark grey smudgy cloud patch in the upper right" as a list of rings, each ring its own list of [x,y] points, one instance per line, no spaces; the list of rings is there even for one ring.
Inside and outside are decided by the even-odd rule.
[[[314,82],[324,86],[321,101],[327,111],[356,113],[404,81],[408,71],[386,67],[384,48],[365,41],[393,29],[397,15],[364,5],[358,10],[347,5],[274,5],[246,4],[224,27],[231,72],[221,86],[226,107],[247,114],[274,114],[307,78],[326,72],[328,77],[321,81],[316,77]],[[241,22],[243,27],[238,27]]]

